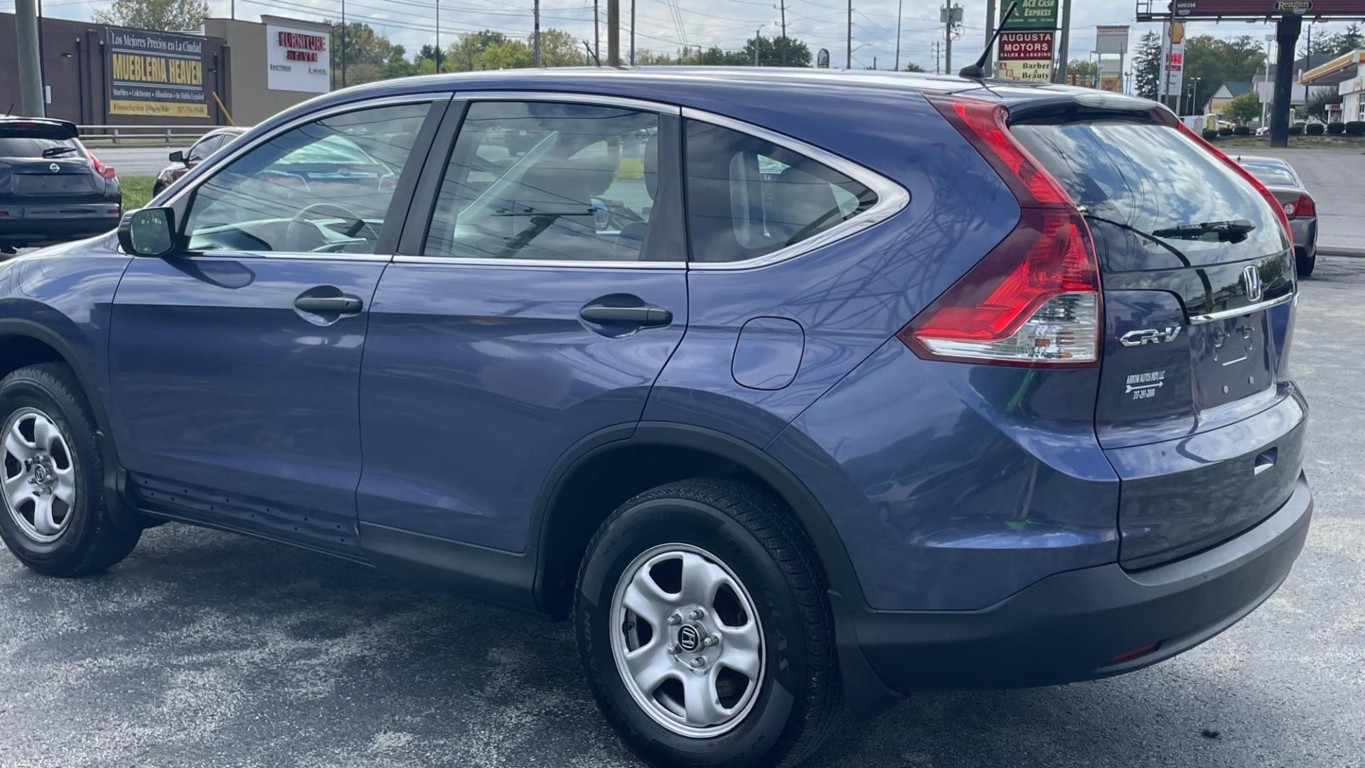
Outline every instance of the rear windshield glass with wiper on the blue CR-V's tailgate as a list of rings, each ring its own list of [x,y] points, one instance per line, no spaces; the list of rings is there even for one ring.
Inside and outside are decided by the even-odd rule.
[[[1106,272],[1223,264],[1284,249],[1279,220],[1260,193],[1175,128],[1095,122],[1011,131],[1085,208]],[[1252,228],[1190,232],[1218,221]],[[1159,235],[1163,230],[1183,232]]]

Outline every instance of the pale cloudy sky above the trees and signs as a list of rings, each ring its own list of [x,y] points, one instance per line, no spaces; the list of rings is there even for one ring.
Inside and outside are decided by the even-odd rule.
[[[213,15],[227,16],[232,0],[210,0]],[[622,57],[629,40],[631,0],[620,0],[622,12]],[[786,4],[788,34],[805,41],[812,51],[830,49],[834,67],[845,63],[848,5],[844,0],[635,0],[636,46],[673,52],[685,41],[689,45],[743,48],[744,41],[762,29],[764,36],[779,34],[778,3]],[[901,63],[915,61],[934,70],[932,45],[942,41],[935,0],[904,0],[901,15]],[[980,53],[986,37],[986,0],[958,0],[964,10],[962,34],[953,44],[954,68]],[[1007,1],[1007,0],[1001,0]],[[93,10],[109,0],[45,0],[44,12],[68,19],[87,19]],[[435,40],[437,0],[345,0],[347,19],[371,23],[381,34],[400,42],[410,52]],[[491,27],[524,37],[531,33],[532,0],[441,0],[441,42],[461,31]],[[0,0],[0,11],[12,11],[14,0]],[[236,0],[236,15],[255,20],[259,14],[274,14],[321,20],[340,18],[341,0]],[[580,40],[592,38],[592,0],[542,0],[543,27],[568,30]],[[1096,25],[1133,25],[1133,40],[1159,25],[1133,23],[1134,0],[1074,0],[1072,18],[1073,59],[1084,59],[1095,44]],[[606,45],[606,0],[601,0],[602,45]],[[853,63],[856,67],[890,68],[895,57],[897,0],[856,0],[853,3]],[[1323,34],[1345,25],[1317,25],[1313,34]],[[1264,38],[1267,25],[1226,22],[1200,23],[1193,34],[1233,37],[1252,34]]]

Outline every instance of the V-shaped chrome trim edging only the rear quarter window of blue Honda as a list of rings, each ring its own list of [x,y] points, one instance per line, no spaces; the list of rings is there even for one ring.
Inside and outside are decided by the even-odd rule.
[[[876,194],[876,202],[872,208],[868,208],[857,216],[841,221],[823,232],[818,232],[799,243],[789,245],[786,247],[766,253],[755,258],[745,258],[743,261],[688,261],[688,266],[692,269],[707,269],[707,271],[732,271],[732,269],[758,269],[762,266],[771,266],[782,261],[788,261],[809,253],[818,247],[827,246],[835,241],[841,241],[849,235],[861,232],[870,227],[880,224],[882,221],[895,216],[905,206],[910,204],[910,193],[901,184],[887,179],[886,176],[871,171],[852,160],[846,160],[833,152],[827,152],[818,146],[805,143],[803,141],[794,139],[789,135],[779,134],[777,131],[755,126],[753,123],[745,123],[743,120],[736,120],[733,118],[726,118],[723,115],[715,115],[711,112],[703,112],[702,109],[693,109],[691,107],[682,108],[682,118],[688,120],[698,120],[700,123],[710,123],[713,126],[719,126],[722,128],[729,128],[732,131],[738,131],[741,134],[748,134],[770,143],[775,143],[784,149],[790,149],[797,154],[804,154],[822,165],[827,165],[839,174],[859,182],[867,189]],[[682,172],[687,174],[687,159],[682,159]]]

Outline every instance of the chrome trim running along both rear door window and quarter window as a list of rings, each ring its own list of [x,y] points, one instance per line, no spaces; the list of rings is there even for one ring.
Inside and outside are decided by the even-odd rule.
[[[702,123],[710,123],[719,126],[722,128],[729,128],[738,131],[755,138],[760,138],[770,143],[775,143],[785,149],[790,149],[799,154],[804,154],[816,163],[827,165],[845,176],[861,183],[863,186],[872,190],[876,194],[876,202],[863,213],[849,219],[848,221],[841,221],[839,224],[824,230],[816,235],[812,235],[799,243],[790,245],[784,249],[778,249],[773,253],[767,253],[755,258],[747,258],[744,261],[695,261],[695,260],[678,260],[678,261],[571,261],[571,260],[517,260],[517,258],[479,258],[479,257],[459,257],[459,256],[394,256],[394,264],[470,264],[470,265],[485,265],[485,266],[577,266],[577,268],[613,268],[613,269],[708,269],[708,271],[734,271],[734,269],[756,269],[762,266],[770,266],[790,258],[796,258],[807,251],[823,247],[835,241],[844,239],[849,235],[861,232],[875,224],[890,219],[891,216],[900,213],[910,202],[910,193],[905,190],[901,184],[887,179],[886,176],[876,174],[857,163],[845,160],[833,152],[823,150],[818,146],[805,143],[803,141],[794,139],[792,137],[771,131],[755,126],[753,123],[745,123],[743,120],[736,120],[733,118],[726,118],[723,115],[715,115],[713,112],[706,112],[702,109],[693,109],[691,107],[674,107],[670,104],[658,104],[652,101],[643,101],[637,98],[622,98],[616,96],[595,96],[590,93],[557,93],[557,92],[470,92],[457,93],[456,100],[464,101],[497,101],[497,100],[521,100],[521,101],[565,101],[571,104],[597,104],[607,107],[624,107],[631,109],[640,109],[648,112],[659,112],[665,115],[677,115],[691,120],[698,120]],[[687,159],[682,159],[682,172],[687,174]]]

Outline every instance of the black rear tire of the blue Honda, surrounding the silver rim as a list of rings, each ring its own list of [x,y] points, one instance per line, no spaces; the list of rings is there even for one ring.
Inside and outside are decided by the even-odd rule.
[[[752,708],[730,731],[680,735],[637,704],[613,656],[612,599],[625,570],[663,544],[714,553],[753,599],[764,672]],[[842,704],[824,574],[790,511],[732,480],[688,480],[647,491],[602,523],[579,571],[579,655],[607,722],[652,765],[796,765],[829,735]]]

